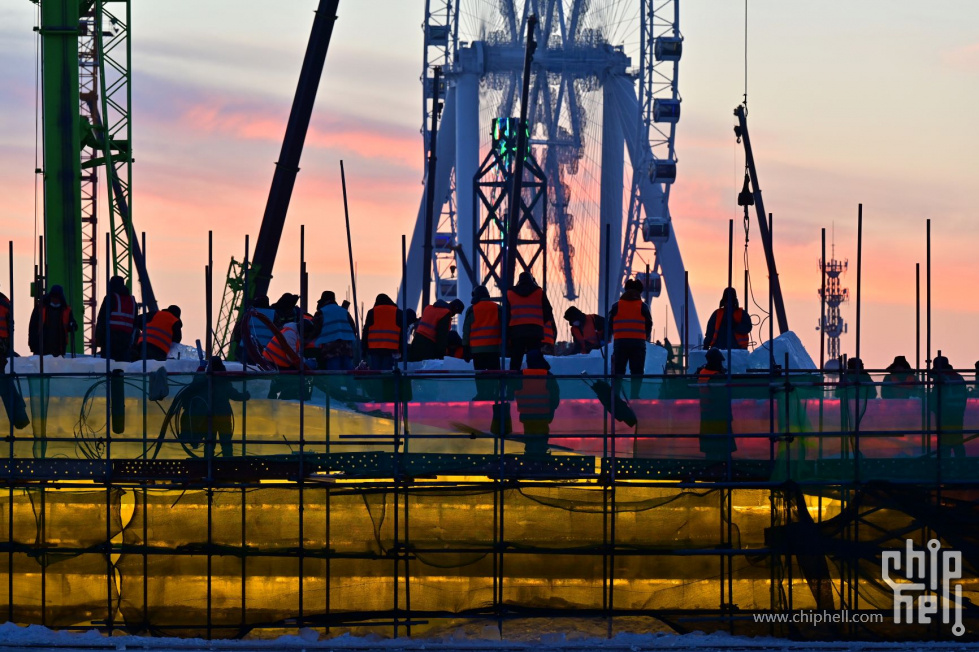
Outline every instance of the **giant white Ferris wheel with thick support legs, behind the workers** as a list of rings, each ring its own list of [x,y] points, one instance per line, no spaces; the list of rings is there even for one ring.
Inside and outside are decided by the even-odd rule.
[[[571,304],[603,312],[624,279],[644,274],[648,263],[648,287],[658,294],[662,280],[678,332],[684,333],[686,308],[689,332],[700,333],[669,211],[681,103],[678,0],[426,0],[426,157],[436,90],[443,107],[438,167],[429,185],[438,224],[434,296],[468,300],[478,282],[474,231],[481,218],[473,178],[490,148],[493,120],[519,113],[530,15],[538,19],[538,47],[529,142],[547,176],[547,278],[555,312]],[[438,89],[436,66],[442,70]],[[409,270],[423,263],[424,216],[422,197]],[[639,257],[646,262],[637,263]],[[406,283],[408,305],[415,306],[421,279],[410,274]]]

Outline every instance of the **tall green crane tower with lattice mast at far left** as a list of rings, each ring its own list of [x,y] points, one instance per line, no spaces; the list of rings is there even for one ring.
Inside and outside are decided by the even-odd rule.
[[[38,0],[41,36],[41,123],[44,135],[45,286],[61,285],[86,338],[94,339],[97,229],[94,197],[105,180],[111,271],[156,309],[132,225],[129,120],[129,0]],[[80,47],[81,46],[81,47]],[[80,75],[80,70],[82,74]],[[83,227],[86,233],[83,234]],[[81,320],[80,320],[81,321]]]

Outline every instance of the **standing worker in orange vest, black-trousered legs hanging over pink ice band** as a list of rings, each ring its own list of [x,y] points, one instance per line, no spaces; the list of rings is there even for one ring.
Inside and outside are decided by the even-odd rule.
[[[636,279],[625,282],[624,292],[608,312],[608,327],[612,333],[612,368],[617,378],[625,375],[626,365],[632,376],[631,398],[639,398],[642,375],[646,370],[646,342],[653,332],[653,316],[642,300],[642,283]]]

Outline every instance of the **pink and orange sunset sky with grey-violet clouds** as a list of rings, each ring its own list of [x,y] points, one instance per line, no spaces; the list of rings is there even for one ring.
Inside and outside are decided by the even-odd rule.
[[[208,229],[218,294],[244,234],[253,242],[257,235],[315,5],[133,3],[133,217],[147,233],[157,296],[182,306],[188,343],[204,334]],[[749,7],[749,125],[774,213],[790,327],[817,358],[820,228],[835,232],[837,257],[849,259],[845,285],[855,297],[863,202],[865,362],[880,368],[897,354],[914,362],[914,271],[920,262],[924,288],[931,218],[932,348],[971,368],[979,359],[979,4],[750,0]],[[360,299],[369,307],[378,292],[397,288],[400,236],[410,234],[422,193],[423,11],[421,0],[341,2],[273,300],[298,288],[300,224],[314,299],[323,289],[346,291],[340,159]],[[744,84],[743,11],[740,0],[688,0],[681,9],[683,119],[671,212],[702,321],[726,282],[729,219],[737,222],[736,248],[744,244],[735,203],[743,155],[731,129]],[[0,240],[4,252],[14,241],[21,327],[36,234],[34,12],[27,0],[0,6]],[[755,298],[767,307],[760,244],[752,222]],[[0,260],[6,265],[5,253]],[[9,294],[7,285],[4,271],[0,289]],[[657,337],[665,305],[654,304]],[[850,355],[855,313],[851,301],[842,346]],[[21,330],[22,353],[25,340]]]

